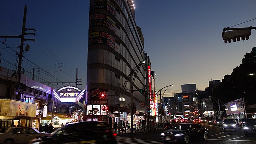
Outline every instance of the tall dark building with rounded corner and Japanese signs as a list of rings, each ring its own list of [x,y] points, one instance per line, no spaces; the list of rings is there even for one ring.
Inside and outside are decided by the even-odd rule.
[[[84,120],[112,125],[118,122],[118,112],[120,120],[130,124],[145,119],[147,96],[140,89],[149,86],[146,75],[151,68],[141,63],[148,56],[133,2],[90,0],[89,17]]]

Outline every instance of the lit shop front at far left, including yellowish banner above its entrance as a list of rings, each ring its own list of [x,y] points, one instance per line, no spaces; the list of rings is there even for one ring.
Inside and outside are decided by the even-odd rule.
[[[13,99],[0,99],[0,129],[3,126],[6,130],[10,127],[15,127],[18,122],[22,126],[32,126],[33,118],[36,117],[37,104],[26,103]],[[36,124],[38,125],[38,124]]]

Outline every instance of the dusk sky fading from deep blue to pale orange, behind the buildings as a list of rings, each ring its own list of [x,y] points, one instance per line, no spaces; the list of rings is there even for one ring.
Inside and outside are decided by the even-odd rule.
[[[166,93],[179,93],[182,84],[190,83],[204,90],[208,81],[231,74],[256,46],[256,30],[245,41],[225,44],[221,37],[224,27],[249,20],[233,28],[256,26],[255,0],[134,0],[134,4],[157,90],[174,84]],[[82,78],[78,87],[86,88],[89,0],[2,0],[0,35],[21,34],[25,5],[26,27],[37,32],[26,36],[35,42],[25,41],[30,51],[24,54],[22,67],[32,72],[36,64],[47,71],[36,70],[39,82],[75,82],[78,68]],[[0,38],[0,66],[13,70],[20,39],[7,38],[6,45],[4,41]]]

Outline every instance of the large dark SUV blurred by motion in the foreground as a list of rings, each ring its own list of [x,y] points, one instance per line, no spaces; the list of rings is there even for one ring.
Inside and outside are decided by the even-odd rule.
[[[116,144],[106,122],[88,121],[66,124],[49,137],[34,139],[32,144]]]

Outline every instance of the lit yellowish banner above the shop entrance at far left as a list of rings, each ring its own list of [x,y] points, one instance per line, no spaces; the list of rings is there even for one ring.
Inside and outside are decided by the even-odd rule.
[[[0,116],[36,117],[37,104],[0,99]]]

